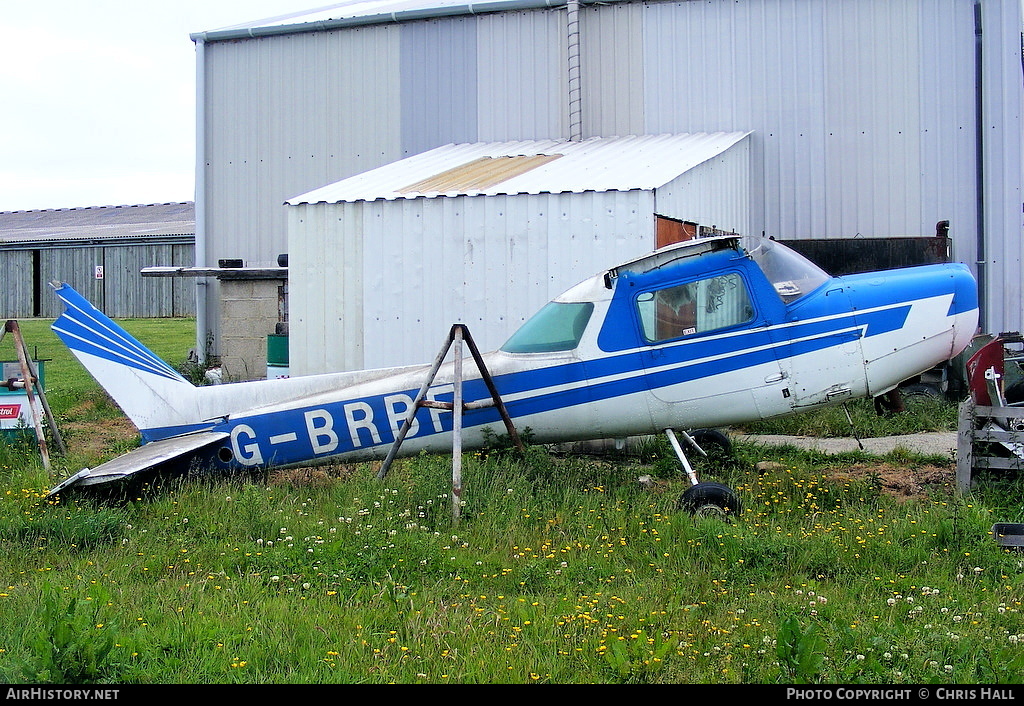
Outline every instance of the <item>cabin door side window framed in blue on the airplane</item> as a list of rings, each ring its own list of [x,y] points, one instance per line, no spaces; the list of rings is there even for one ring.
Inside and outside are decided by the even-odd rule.
[[[644,338],[651,343],[738,326],[754,318],[750,293],[738,273],[644,292],[636,305]]]

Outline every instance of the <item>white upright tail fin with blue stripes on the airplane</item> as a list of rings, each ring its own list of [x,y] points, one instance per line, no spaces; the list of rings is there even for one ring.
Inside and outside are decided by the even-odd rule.
[[[53,332],[114,398],[143,439],[195,424],[198,389],[71,286],[51,283],[65,303]]]

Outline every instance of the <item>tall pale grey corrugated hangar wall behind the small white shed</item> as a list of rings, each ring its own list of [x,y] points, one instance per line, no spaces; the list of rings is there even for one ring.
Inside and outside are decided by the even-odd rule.
[[[990,328],[1020,329],[1021,3],[982,0]],[[584,136],[753,130],[751,227],[927,235],[974,262],[975,0],[582,10]],[[210,42],[207,261],[283,252],[282,202],[446,141],[566,137],[564,8]],[[294,268],[293,268],[294,269]]]

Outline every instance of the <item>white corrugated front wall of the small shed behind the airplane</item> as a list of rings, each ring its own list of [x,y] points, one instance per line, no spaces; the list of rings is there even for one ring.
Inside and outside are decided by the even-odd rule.
[[[302,247],[289,265],[309,274],[289,288],[293,374],[426,363],[457,322],[482,349],[497,348],[571,285],[653,249],[644,191],[290,210]]]

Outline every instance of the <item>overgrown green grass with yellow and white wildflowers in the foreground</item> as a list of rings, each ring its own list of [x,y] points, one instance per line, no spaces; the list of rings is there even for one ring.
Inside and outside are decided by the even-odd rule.
[[[190,324],[163,324],[182,359]],[[52,357],[51,397],[79,385],[63,398],[78,409],[96,392]],[[961,498],[946,463],[898,501],[872,468],[943,462],[736,451],[709,479],[740,493],[734,522],[676,510],[687,484],[660,441],[467,455],[456,522],[442,456],[385,482],[360,464],[55,505],[42,496],[74,460],[47,473],[32,449],[0,448],[0,680],[1022,679],[1022,555],[989,534],[1024,521],[1021,481]]]

